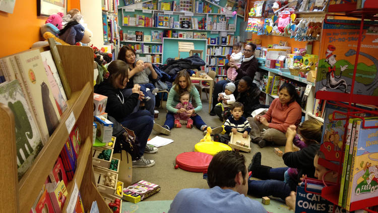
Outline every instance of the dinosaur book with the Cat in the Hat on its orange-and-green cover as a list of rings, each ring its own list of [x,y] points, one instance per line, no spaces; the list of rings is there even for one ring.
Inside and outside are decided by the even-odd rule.
[[[346,22],[346,20],[328,21]],[[347,22],[357,25],[323,23],[316,78],[317,98],[348,101],[345,97],[351,93],[357,96],[378,96],[378,57],[376,55],[378,32],[374,30],[374,27],[367,26],[371,22],[364,22],[358,61],[356,62],[360,21],[347,20]],[[355,64],[357,64],[357,69],[354,91],[351,91]],[[366,99],[366,96],[360,96],[359,99],[362,97]],[[374,101],[371,98],[370,100]]]

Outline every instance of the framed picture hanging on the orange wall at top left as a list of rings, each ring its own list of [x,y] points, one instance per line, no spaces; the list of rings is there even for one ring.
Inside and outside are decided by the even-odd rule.
[[[67,0],[37,0],[37,15],[50,16],[61,12],[67,14]]]

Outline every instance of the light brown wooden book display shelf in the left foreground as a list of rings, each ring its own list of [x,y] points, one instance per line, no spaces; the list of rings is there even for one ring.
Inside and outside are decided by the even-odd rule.
[[[48,50],[49,46],[40,48]],[[92,202],[97,200],[100,212],[112,212],[98,192],[92,169],[92,135],[93,135],[93,49],[85,46],[57,45],[72,95],[67,101],[68,109],[61,115],[60,123],[34,159],[32,166],[18,181],[16,164],[15,117],[4,104],[0,104],[0,126],[3,143],[0,150],[3,166],[1,178],[0,211],[29,212],[46,178],[49,176],[60,150],[64,147],[71,130],[69,123],[79,126],[82,143],[77,158],[77,169],[74,178],[67,185],[68,195],[62,207],[66,212],[69,200],[73,195],[75,184],[80,190],[85,209],[91,209]],[[30,51],[30,50],[27,50]],[[73,125],[72,125],[73,126]],[[4,184],[6,183],[6,184]]]

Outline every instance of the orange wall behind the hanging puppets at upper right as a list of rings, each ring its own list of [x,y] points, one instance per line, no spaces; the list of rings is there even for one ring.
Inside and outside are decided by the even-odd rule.
[[[252,40],[254,39],[261,39],[262,46],[268,46],[268,44],[278,44],[280,41],[286,41],[287,46],[291,46],[291,52],[294,51],[294,47],[296,48],[305,48],[307,41],[296,41],[294,38],[284,37],[284,36],[275,36],[275,35],[258,35],[256,33],[252,34]],[[312,42],[312,54],[319,55],[319,48],[320,42],[313,41]]]

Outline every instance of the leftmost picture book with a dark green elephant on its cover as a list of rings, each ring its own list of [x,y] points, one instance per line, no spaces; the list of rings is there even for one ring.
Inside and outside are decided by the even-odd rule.
[[[20,180],[43,147],[41,135],[18,80],[0,85],[0,102],[7,105],[15,117],[17,172]]]

